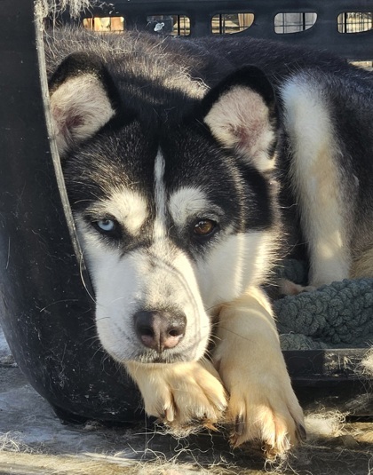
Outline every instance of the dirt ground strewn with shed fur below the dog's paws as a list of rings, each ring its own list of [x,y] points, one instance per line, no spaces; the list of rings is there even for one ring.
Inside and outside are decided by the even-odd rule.
[[[114,428],[61,424],[0,334],[0,475],[373,474],[373,424],[345,422],[324,400],[310,401],[306,444],[275,464],[264,461],[260,447],[232,451],[221,433],[176,440],[146,420]]]

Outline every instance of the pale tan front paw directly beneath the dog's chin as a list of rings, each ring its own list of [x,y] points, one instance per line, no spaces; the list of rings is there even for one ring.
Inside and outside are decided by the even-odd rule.
[[[226,409],[226,392],[210,361],[137,364],[127,368],[139,385],[148,416],[184,437],[202,427],[214,429]]]

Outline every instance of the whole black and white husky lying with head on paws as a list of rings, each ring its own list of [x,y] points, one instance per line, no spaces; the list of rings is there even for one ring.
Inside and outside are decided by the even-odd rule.
[[[51,111],[104,349],[171,431],[305,437],[263,284],[306,243],[309,285],[372,275],[372,79],[248,37],[63,30]]]

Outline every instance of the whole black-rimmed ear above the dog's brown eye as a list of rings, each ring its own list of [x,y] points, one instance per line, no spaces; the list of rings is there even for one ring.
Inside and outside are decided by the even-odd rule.
[[[226,148],[259,171],[274,168],[277,107],[274,89],[258,67],[242,67],[202,100],[203,122]]]

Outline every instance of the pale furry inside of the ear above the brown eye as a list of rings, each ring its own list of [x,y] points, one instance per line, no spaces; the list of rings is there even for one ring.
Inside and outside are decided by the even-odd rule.
[[[232,87],[218,98],[204,122],[223,146],[236,148],[259,171],[274,168],[268,149],[275,132],[269,109],[258,92],[244,86]]]

